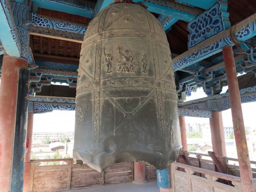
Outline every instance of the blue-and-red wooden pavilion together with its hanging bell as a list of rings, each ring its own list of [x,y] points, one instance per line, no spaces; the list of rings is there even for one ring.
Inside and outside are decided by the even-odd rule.
[[[255,0],[0,0],[0,192],[256,192],[241,108],[256,101],[255,36]],[[31,160],[33,114],[53,110],[76,111],[74,160]],[[185,116],[209,119],[213,151],[187,151]]]

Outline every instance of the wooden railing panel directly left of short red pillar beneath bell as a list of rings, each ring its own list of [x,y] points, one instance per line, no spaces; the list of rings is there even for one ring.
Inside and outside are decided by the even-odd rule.
[[[108,166],[104,175],[105,183],[132,182],[132,167],[132,162],[128,161]]]

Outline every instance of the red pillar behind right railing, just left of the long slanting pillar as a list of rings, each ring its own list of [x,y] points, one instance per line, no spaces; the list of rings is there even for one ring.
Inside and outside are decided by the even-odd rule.
[[[209,121],[211,128],[213,152],[219,160],[219,163],[222,165],[224,171],[226,172],[227,163],[226,160],[224,160],[224,157],[227,156],[227,153],[225,146],[222,112],[212,112],[212,118],[210,118]],[[216,169],[216,171],[221,172],[218,169]]]

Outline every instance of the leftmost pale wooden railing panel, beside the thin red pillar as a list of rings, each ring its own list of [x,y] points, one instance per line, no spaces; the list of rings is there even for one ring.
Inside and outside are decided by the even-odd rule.
[[[69,165],[35,166],[33,192],[67,189]]]

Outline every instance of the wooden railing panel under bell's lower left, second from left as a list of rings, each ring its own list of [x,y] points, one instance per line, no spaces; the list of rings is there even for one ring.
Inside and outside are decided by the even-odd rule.
[[[72,165],[71,188],[102,185],[102,173],[86,164]]]

